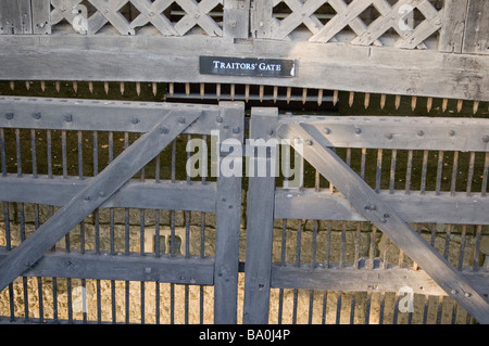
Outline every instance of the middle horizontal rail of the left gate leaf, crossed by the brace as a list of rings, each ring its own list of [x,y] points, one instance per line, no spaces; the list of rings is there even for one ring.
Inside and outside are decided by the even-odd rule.
[[[0,201],[63,206],[89,184],[78,177],[0,178]],[[101,208],[138,208],[215,213],[216,184],[186,181],[128,181]]]

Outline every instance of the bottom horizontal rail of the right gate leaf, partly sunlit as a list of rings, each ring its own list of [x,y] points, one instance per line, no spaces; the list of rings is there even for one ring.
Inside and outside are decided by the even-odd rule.
[[[482,294],[489,293],[489,273],[461,271]],[[447,292],[424,271],[408,268],[354,269],[311,268],[311,266],[272,265],[272,287],[340,292],[399,292],[403,286],[415,294],[447,296]]]

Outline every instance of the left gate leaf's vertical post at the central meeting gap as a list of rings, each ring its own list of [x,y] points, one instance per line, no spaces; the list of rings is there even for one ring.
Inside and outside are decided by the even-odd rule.
[[[220,141],[231,140],[242,148],[244,132],[244,104],[220,103]],[[218,143],[221,146],[221,143]],[[241,153],[234,153],[242,159]],[[214,269],[214,323],[237,323],[239,238],[241,229],[241,175],[223,175],[223,159],[218,158],[216,198],[216,240]],[[237,164],[236,162],[234,164]]]

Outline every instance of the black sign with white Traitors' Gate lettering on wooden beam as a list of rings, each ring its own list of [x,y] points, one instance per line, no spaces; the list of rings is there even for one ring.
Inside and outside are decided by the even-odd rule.
[[[204,75],[296,77],[296,62],[283,59],[200,56]]]

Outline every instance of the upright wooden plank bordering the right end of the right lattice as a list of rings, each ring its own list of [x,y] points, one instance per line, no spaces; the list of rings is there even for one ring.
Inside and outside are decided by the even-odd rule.
[[[439,50],[462,53],[468,0],[444,0]]]

